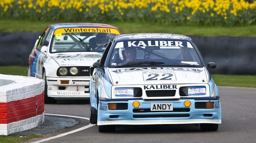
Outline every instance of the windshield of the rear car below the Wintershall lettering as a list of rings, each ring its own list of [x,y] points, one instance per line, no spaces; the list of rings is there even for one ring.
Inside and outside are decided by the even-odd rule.
[[[72,28],[70,28],[72,29]],[[58,29],[57,29],[58,30]],[[81,30],[56,31],[54,32],[50,53],[63,52],[102,52],[104,44],[117,34],[105,32],[75,32]],[[113,30],[114,31],[114,30]]]

